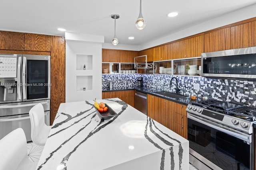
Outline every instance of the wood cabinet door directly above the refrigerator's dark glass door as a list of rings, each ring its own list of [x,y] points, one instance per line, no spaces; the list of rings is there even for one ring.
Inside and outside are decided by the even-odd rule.
[[[51,51],[51,36],[25,33],[25,50]]]

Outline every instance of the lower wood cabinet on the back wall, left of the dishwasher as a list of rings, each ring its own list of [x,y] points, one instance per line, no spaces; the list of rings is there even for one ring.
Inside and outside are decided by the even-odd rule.
[[[135,106],[135,90],[102,92],[102,99],[120,98],[130,106]]]

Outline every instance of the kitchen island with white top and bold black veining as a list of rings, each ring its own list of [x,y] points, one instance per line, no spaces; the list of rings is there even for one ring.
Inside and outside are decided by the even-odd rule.
[[[100,119],[92,100],[60,104],[38,170],[188,170],[186,139],[118,98],[98,102],[117,115]]]

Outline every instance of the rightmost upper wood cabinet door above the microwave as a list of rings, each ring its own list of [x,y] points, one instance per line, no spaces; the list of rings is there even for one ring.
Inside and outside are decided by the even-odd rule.
[[[256,21],[231,27],[231,49],[256,46]]]

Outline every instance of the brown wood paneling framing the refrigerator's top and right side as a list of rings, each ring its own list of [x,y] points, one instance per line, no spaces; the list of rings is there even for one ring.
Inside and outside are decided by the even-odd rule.
[[[65,45],[65,37],[0,31],[0,53],[51,55],[51,125],[65,102]]]

